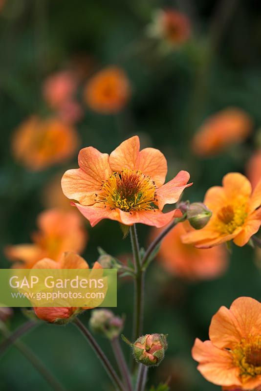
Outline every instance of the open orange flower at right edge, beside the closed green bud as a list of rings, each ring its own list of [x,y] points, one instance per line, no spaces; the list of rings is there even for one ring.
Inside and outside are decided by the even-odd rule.
[[[233,240],[241,247],[259,230],[261,181],[253,192],[249,180],[239,173],[225,175],[222,184],[211,187],[205,195],[204,204],[212,211],[208,224],[183,235],[183,243],[204,248]]]

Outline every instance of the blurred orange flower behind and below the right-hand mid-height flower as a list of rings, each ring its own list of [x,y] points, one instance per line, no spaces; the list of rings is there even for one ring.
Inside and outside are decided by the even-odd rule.
[[[154,229],[152,239],[161,230]],[[198,249],[184,244],[181,236],[187,233],[187,224],[179,223],[163,239],[159,250],[159,261],[175,276],[189,280],[209,280],[221,275],[227,267],[227,251],[223,246]]]

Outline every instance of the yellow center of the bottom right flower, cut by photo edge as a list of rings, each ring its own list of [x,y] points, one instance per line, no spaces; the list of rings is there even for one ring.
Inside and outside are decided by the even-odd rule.
[[[234,364],[240,369],[242,383],[261,375],[261,335],[242,340],[232,351]]]

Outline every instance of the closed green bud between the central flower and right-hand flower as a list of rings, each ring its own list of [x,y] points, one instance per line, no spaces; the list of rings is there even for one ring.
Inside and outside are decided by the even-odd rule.
[[[202,202],[182,201],[178,204],[178,209],[187,217],[190,225],[195,229],[202,229],[207,225],[212,216],[211,210]]]

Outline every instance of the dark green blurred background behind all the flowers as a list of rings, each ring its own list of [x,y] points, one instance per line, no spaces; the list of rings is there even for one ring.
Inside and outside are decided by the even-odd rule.
[[[155,9],[174,7],[188,15],[193,36],[178,50],[161,53],[144,41],[146,25]],[[32,173],[14,161],[10,150],[13,130],[32,113],[43,110],[41,88],[49,74],[64,69],[74,56],[88,56],[94,70],[119,65],[131,81],[131,101],[116,115],[100,115],[84,107],[77,124],[81,146],[112,151],[133,134],[142,146],[160,149],[168,160],[168,179],[184,169],[193,187],[185,199],[202,200],[205,191],[221,183],[228,172],[244,173],[259,145],[261,126],[261,4],[257,0],[6,0],[0,13],[0,242],[30,242],[36,217],[43,211],[43,189],[55,176],[77,167],[77,154],[65,165]],[[79,91],[79,100],[81,100]],[[244,109],[255,132],[240,146],[217,157],[200,159],[190,150],[193,133],[209,114],[228,106]],[[98,257],[97,246],[118,256],[131,250],[117,222],[103,220],[90,229],[84,253]],[[150,228],[138,226],[146,245]],[[0,267],[10,263],[1,253]],[[149,384],[173,377],[171,390],[215,391],[201,377],[191,358],[194,339],[208,338],[212,315],[239,296],[260,299],[260,272],[254,250],[233,247],[228,271],[215,281],[188,283],[169,276],[154,261],[146,281],[146,333],[169,334],[164,364],[150,369]],[[133,290],[119,281],[115,313],[126,314],[124,333],[131,336]],[[83,316],[87,324],[89,313]],[[25,322],[19,309],[11,329]],[[112,357],[107,341],[98,338]],[[110,390],[104,369],[72,326],[42,324],[23,338],[68,390]],[[128,348],[123,347],[128,354]],[[112,359],[113,360],[113,359]],[[166,367],[169,366],[170,370]],[[171,372],[171,373],[170,373]],[[0,390],[49,390],[20,352],[11,347],[0,357]]]

